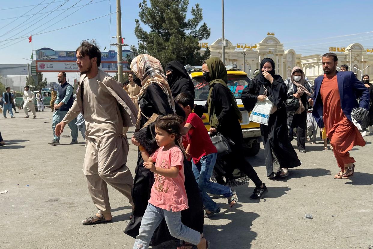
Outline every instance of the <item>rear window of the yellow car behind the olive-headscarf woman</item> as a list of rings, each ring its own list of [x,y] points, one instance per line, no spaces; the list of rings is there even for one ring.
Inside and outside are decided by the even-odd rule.
[[[194,84],[194,100],[207,100],[209,95],[209,83],[203,77],[192,78]],[[236,99],[241,98],[242,90],[251,82],[246,75],[228,75],[228,87]]]

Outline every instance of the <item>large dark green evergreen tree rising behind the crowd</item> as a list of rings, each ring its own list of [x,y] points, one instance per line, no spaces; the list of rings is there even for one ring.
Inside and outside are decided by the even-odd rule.
[[[139,43],[138,48],[131,46],[132,52],[154,56],[163,66],[171,60],[179,60],[183,65],[201,65],[210,57],[210,50],[201,55],[199,41],[210,37],[210,29],[206,23],[199,26],[203,19],[199,4],[192,7],[192,18],[186,19],[188,4],[188,0],[150,0],[150,7],[146,0],[139,3],[140,20],[150,31],[141,28],[140,21],[135,19]]]

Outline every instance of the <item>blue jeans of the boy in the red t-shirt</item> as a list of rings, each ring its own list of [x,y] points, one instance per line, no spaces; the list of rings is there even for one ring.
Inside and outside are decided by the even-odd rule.
[[[200,162],[198,162],[198,164],[195,164],[192,160],[192,170],[194,173],[195,180],[197,181],[197,184],[200,187],[202,202],[205,206],[205,209],[209,211],[214,211],[219,206],[213,200],[211,200],[207,193],[222,194],[226,198],[229,198],[233,195],[233,192],[230,187],[210,181],[212,171],[215,166],[216,158],[216,153],[212,153],[203,156]]]

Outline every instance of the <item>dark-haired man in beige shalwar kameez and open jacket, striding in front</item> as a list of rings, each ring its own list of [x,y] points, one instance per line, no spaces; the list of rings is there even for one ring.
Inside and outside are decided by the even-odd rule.
[[[76,50],[76,57],[82,74],[79,90],[72,107],[55,131],[59,136],[63,127],[79,113],[84,115],[87,149],[83,172],[98,212],[83,220],[82,224],[91,225],[112,219],[107,184],[125,195],[133,206],[133,178],[126,166],[128,141],[123,127],[135,125],[137,111],[123,91],[122,84],[98,69],[101,52],[94,44],[84,41]]]

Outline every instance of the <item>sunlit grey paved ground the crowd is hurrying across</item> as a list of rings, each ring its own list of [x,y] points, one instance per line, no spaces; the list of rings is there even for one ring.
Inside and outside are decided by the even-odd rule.
[[[95,213],[82,173],[84,143],[50,146],[51,112],[36,119],[0,118],[8,143],[0,148],[0,248],[132,248],[134,239],[122,231],[130,206],[109,186],[113,222],[83,226]],[[132,129],[133,130],[133,129]],[[131,130],[130,130],[131,131]],[[63,134],[69,135],[66,126]],[[131,136],[131,132],[129,133]],[[216,199],[222,212],[205,220],[205,235],[214,249],[229,248],[373,248],[372,136],[355,147],[358,159],[350,180],[334,180],[338,172],[332,151],[321,141],[299,154],[302,165],[282,181],[267,180],[264,151],[248,160],[267,184],[265,199],[252,201],[253,184],[236,190],[239,203],[231,209]],[[130,145],[128,166],[134,173],[137,151]],[[312,214],[313,219],[305,219]],[[176,248],[174,242],[156,249]]]

